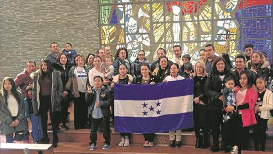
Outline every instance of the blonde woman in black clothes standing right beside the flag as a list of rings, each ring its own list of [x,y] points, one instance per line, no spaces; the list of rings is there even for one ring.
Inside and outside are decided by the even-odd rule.
[[[199,60],[194,67],[194,103],[193,103],[193,119],[195,130],[195,148],[208,147],[208,98],[205,94],[205,83],[207,80],[206,64]],[[201,130],[202,129],[202,134]]]

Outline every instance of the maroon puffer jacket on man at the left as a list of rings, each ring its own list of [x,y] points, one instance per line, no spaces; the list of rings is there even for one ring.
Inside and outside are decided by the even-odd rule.
[[[15,86],[20,87],[22,96],[26,97],[26,88],[29,85],[29,83],[32,82],[29,72],[24,70],[22,73],[19,73],[16,78],[14,79]]]

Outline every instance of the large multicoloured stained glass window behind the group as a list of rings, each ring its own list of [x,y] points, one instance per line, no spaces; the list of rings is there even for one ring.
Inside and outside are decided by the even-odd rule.
[[[254,50],[272,52],[272,0],[99,0],[101,46],[128,48],[130,60],[144,50],[149,61],[157,59],[156,50],[179,44],[183,54],[195,61],[206,44],[214,44],[215,54],[226,52],[230,36],[231,59],[244,53],[244,44]]]

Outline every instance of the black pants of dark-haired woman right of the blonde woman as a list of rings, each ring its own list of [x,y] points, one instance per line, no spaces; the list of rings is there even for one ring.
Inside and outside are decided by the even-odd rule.
[[[210,122],[211,122],[211,130],[212,130],[212,137],[213,137],[213,144],[219,144],[219,134],[221,132],[222,139],[224,138],[223,135],[223,129],[224,124],[222,120],[222,112],[221,111],[211,111],[210,116]],[[220,131],[221,126],[221,131]]]

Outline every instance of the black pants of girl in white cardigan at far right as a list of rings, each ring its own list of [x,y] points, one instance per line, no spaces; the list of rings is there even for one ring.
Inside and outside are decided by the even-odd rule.
[[[266,146],[266,126],[268,119],[260,118],[255,114],[257,124],[253,126],[254,129],[254,145],[256,151],[265,151]]]

